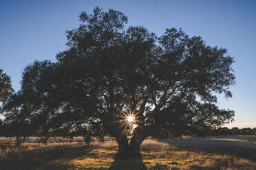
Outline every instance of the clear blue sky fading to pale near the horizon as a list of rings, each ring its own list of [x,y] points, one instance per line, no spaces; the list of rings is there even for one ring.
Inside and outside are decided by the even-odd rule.
[[[0,1],[0,69],[20,88],[21,71],[34,60],[55,60],[65,47],[65,30],[78,26],[78,14],[99,5],[124,12],[128,25],[143,25],[161,35],[178,27],[202,36],[208,45],[228,49],[235,58],[237,84],[232,99],[219,99],[235,110],[228,127],[256,127],[256,1]]]

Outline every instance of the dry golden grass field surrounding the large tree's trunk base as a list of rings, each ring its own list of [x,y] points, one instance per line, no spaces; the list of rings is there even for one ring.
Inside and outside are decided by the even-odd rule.
[[[53,138],[47,145],[29,138],[20,149],[14,138],[0,138],[0,169],[256,169],[256,136],[147,139],[142,158],[115,160],[115,141]],[[8,144],[8,145],[7,145]]]

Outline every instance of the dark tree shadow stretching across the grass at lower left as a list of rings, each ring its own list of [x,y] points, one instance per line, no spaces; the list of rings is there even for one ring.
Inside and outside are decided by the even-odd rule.
[[[60,147],[47,151],[23,151],[19,154],[10,154],[6,159],[1,159],[0,169],[74,169],[74,165],[70,165],[67,162],[85,156],[89,151],[91,151],[91,149],[86,146],[71,148]]]

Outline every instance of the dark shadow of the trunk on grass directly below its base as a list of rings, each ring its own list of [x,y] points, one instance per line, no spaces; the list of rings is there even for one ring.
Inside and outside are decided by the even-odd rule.
[[[147,170],[146,165],[142,162],[142,157],[138,156],[137,158],[127,158],[127,159],[118,159],[115,158],[109,170]]]

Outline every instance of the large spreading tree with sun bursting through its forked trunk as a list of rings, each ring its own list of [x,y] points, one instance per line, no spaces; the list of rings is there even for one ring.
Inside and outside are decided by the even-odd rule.
[[[100,125],[116,138],[117,156],[138,156],[147,136],[198,134],[233,120],[232,110],[215,105],[215,94],[232,97],[235,83],[226,49],[182,29],[158,37],[126,28],[116,10],[96,7],[80,21],[56,62],[36,61],[23,72],[24,102],[48,132],[88,134]]]

